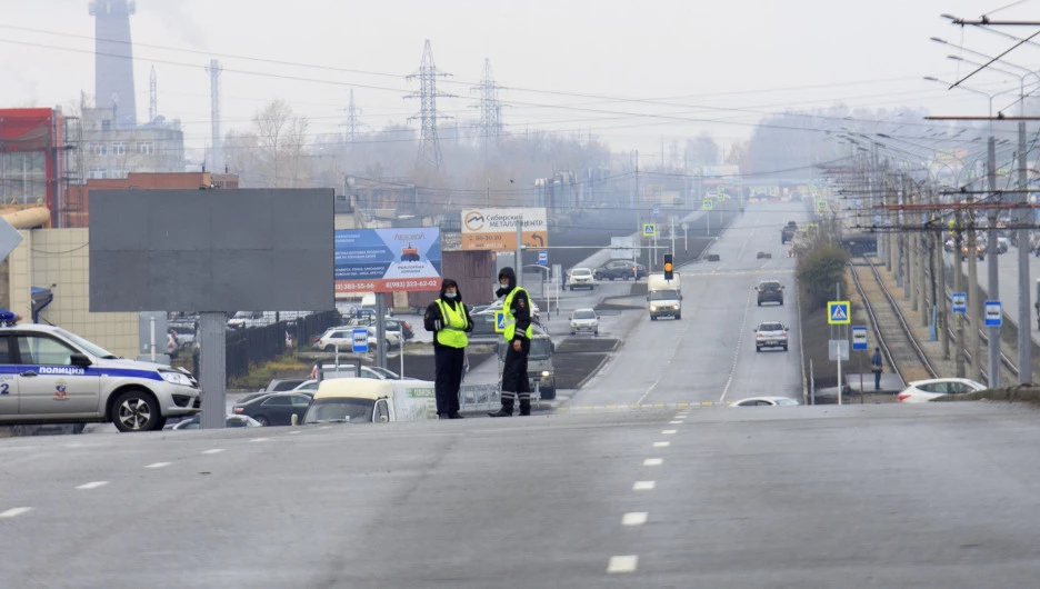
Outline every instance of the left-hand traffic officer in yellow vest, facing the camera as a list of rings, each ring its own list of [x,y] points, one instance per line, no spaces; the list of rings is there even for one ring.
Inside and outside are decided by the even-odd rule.
[[[462,303],[459,283],[450,278],[441,282],[440,297],[427,307],[422,323],[433,332],[433,391],[438,419],[462,419],[459,413],[459,388],[466,362],[467,333],[473,330],[469,309]]]

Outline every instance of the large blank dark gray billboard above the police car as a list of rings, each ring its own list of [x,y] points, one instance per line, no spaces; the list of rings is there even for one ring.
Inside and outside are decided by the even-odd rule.
[[[91,190],[90,310],[334,308],[331,189]]]

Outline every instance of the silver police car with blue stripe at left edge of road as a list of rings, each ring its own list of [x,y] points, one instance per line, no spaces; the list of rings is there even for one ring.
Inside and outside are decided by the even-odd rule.
[[[159,430],[200,411],[198,381],[181,368],[119,358],[59,327],[0,313],[0,425],[111,421]]]

